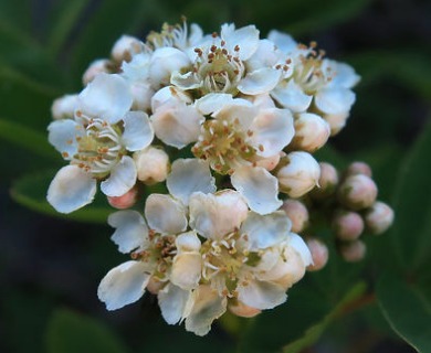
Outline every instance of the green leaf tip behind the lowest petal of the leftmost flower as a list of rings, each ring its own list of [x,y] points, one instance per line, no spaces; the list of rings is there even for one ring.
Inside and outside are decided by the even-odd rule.
[[[90,223],[106,223],[113,208],[108,206],[106,197],[98,193],[95,201],[82,210],[71,214],[56,212],[46,201],[46,191],[55,175],[55,171],[33,173],[17,180],[10,191],[18,203],[48,215]]]

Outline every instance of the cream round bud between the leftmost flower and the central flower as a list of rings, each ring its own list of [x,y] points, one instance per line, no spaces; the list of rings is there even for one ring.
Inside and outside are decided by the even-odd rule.
[[[154,184],[166,180],[169,172],[169,156],[159,148],[148,147],[134,153],[138,180]]]

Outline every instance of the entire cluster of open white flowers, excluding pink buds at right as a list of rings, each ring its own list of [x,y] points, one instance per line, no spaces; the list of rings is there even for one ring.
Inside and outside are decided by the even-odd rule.
[[[49,140],[70,164],[48,201],[73,212],[99,183],[122,208],[108,223],[130,260],[101,282],[107,309],[147,290],[168,323],[203,335],[227,310],[252,317],[284,302],[313,260],[296,234],[306,220],[283,199],[318,186],[312,153],[345,126],[358,81],[315,43],[261,39],[254,25],[164,25],[92,63],[85,88],[52,107]],[[141,189],[144,214],[123,210]]]

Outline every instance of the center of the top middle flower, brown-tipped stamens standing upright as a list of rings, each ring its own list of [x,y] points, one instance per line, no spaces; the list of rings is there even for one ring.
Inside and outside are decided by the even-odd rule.
[[[193,69],[203,82],[202,95],[208,93],[238,94],[236,85],[244,75],[244,65],[238,56],[240,47],[236,45],[234,55],[232,55],[224,44],[221,41],[220,46],[211,45],[207,55],[201,49],[195,49],[198,60]]]

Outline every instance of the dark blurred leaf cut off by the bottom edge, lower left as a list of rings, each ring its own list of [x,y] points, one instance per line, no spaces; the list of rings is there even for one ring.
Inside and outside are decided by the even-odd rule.
[[[72,310],[56,310],[48,325],[48,353],[126,353],[119,338],[101,322]]]

